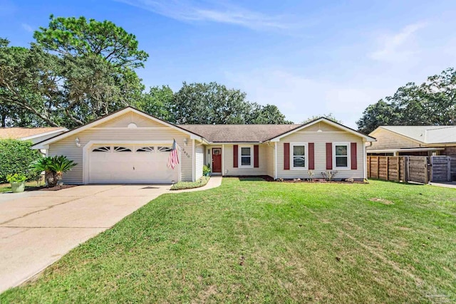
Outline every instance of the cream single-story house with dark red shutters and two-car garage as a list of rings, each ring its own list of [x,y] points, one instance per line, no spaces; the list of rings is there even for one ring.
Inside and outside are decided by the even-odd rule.
[[[167,167],[173,140],[180,164]],[[35,149],[78,163],[67,184],[172,183],[195,181],[209,164],[212,174],[308,178],[337,170],[336,179],[366,178],[363,135],[320,118],[304,125],[172,125],[125,108],[56,137]]]

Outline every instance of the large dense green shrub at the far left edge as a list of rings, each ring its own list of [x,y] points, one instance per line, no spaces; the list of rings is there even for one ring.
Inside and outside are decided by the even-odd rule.
[[[39,150],[31,150],[32,143],[21,140],[0,140],[0,182],[6,182],[9,174],[24,174],[27,180],[34,179],[36,172],[28,166],[42,157]]]

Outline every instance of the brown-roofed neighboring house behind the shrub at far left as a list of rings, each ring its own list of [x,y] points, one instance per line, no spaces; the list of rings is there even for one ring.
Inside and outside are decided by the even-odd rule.
[[[29,140],[36,144],[66,131],[65,127],[0,127],[0,140]]]

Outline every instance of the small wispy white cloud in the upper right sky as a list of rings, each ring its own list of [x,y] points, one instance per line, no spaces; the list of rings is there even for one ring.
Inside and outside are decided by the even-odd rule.
[[[380,36],[378,38],[380,47],[371,53],[370,57],[377,61],[406,61],[418,53],[418,48],[414,43],[415,33],[425,26],[427,23],[413,23],[405,26],[398,33]]]

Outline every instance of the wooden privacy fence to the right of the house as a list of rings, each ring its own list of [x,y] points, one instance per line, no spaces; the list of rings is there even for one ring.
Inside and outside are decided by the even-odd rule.
[[[456,157],[368,156],[367,160],[370,179],[427,184],[450,182],[455,175]]]

